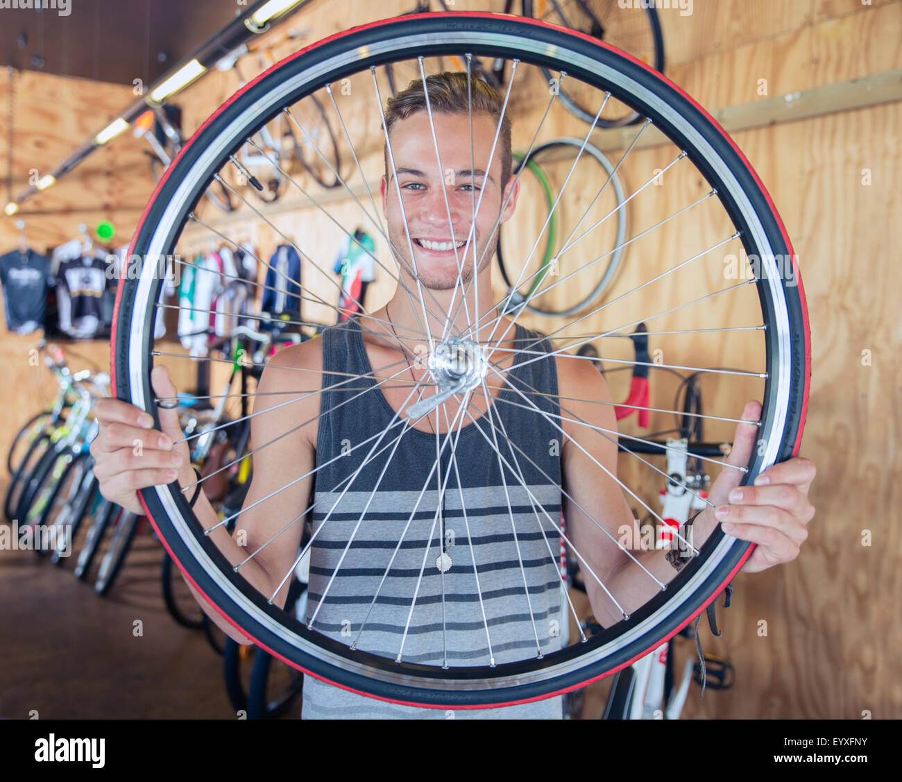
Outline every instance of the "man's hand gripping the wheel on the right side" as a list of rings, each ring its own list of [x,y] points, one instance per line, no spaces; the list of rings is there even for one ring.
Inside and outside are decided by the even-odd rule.
[[[760,403],[750,401],[741,418],[757,422],[760,415]],[[756,426],[738,424],[727,463],[747,465],[757,434]],[[798,557],[808,537],[807,524],[815,516],[815,508],[808,501],[808,489],[815,480],[814,463],[796,456],[770,466],[759,474],[754,486],[739,487],[741,478],[741,471],[723,468],[708,493],[715,508],[713,516],[710,508],[704,511],[709,517],[704,527],[713,529],[720,521],[728,535],[758,544],[742,566],[742,573],[791,562]]]

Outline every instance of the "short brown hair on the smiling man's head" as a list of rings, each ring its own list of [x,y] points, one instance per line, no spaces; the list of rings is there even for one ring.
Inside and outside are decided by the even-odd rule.
[[[495,118],[495,126],[502,115],[504,97],[482,78],[471,74],[469,85],[465,73],[446,70],[426,77],[426,88],[429,93],[429,108],[433,114],[468,114],[471,98],[473,114],[488,114]],[[426,96],[423,92],[423,80],[415,78],[396,96],[390,97],[385,104],[385,127],[391,133],[391,126],[398,120],[407,119],[418,111],[426,111]],[[508,179],[511,178],[511,118],[507,113],[502,120],[502,130],[495,148],[502,161],[502,192]],[[389,172],[388,144],[385,144],[385,173]]]

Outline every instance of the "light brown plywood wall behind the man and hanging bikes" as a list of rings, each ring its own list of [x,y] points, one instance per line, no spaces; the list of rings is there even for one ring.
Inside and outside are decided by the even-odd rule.
[[[457,6],[461,10],[485,10],[487,4],[458,2]],[[407,9],[398,0],[378,7],[348,0],[311,8],[299,17],[297,26],[310,26],[313,32],[309,40],[313,40],[344,29],[348,19],[365,23],[400,10]],[[755,100],[761,79],[766,80],[768,95],[773,96],[902,65],[897,47],[902,37],[902,3],[893,0],[874,0],[868,6],[858,0],[695,0],[690,15],[674,10],[661,10],[659,14],[667,44],[667,75],[709,110]],[[290,45],[283,48],[287,51]],[[250,75],[245,72],[245,76]],[[197,127],[236,86],[234,74],[213,73],[198,86],[190,87],[182,99],[186,128]],[[108,100],[113,111],[119,105],[114,88],[86,85],[85,89],[88,87],[98,87],[98,106]],[[515,109],[514,146],[522,150],[538,122],[539,102],[525,99]],[[38,116],[38,108],[26,110],[32,114],[23,123],[32,132],[53,126],[51,116]],[[41,108],[43,112],[51,110]],[[347,116],[354,120],[353,112]],[[811,491],[817,516],[796,562],[735,579],[733,605],[722,614],[723,638],[713,639],[707,630],[703,638],[706,651],[731,660],[736,668],[736,685],[730,692],[707,693],[704,701],[699,701],[694,690],[686,704],[686,716],[856,719],[865,711],[874,718],[902,716],[902,685],[896,684],[893,666],[897,657],[894,650],[902,645],[902,630],[897,621],[889,619],[897,617],[895,595],[902,587],[902,540],[895,523],[896,509],[902,505],[897,480],[902,474],[902,455],[895,445],[902,401],[897,361],[902,331],[894,303],[897,296],[892,293],[902,289],[896,250],[902,242],[902,228],[894,218],[894,186],[902,178],[899,127],[902,105],[890,104],[734,134],[787,225],[805,282],[813,378],[801,453],[818,465]],[[358,152],[364,173],[367,179],[375,178],[382,170],[381,137],[363,128],[358,130],[354,139],[355,143],[360,140]],[[548,137],[577,134],[584,133],[584,125],[563,113],[551,118],[547,130]],[[52,141],[56,136],[51,133],[49,138]],[[88,182],[101,182],[103,186],[97,185],[97,193],[88,190],[91,198],[70,194],[69,207],[87,207],[89,202],[90,208],[100,214],[106,208],[104,203],[112,204],[120,208],[115,213],[117,220],[127,225],[125,207],[132,205],[132,198],[140,205],[141,193],[150,185],[149,181],[133,178],[141,168],[140,147],[130,139],[123,139],[121,144],[121,149],[111,146],[109,152],[121,156],[121,168],[110,159],[103,164],[109,170],[106,177],[85,175],[86,188]],[[55,153],[60,145],[53,142],[49,149]],[[30,156],[34,153],[32,150]],[[669,145],[633,152],[621,171],[624,185],[628,190],[639,187],[674,156]],[[610,157],[616,161],[619,154],[612,152]],[[16,165],[17,176],[21,176],[23,166],[21,162]],[[549,166],[548,170],[558,179],[566,175],[563,164]],[[865,170],[869,176],[865,176]],[[78,180],[79,175],[73,179]],[[359,182],[359,172],[355,176]],[[685,206],[705,190],[706,183],[691,168],[676,166],[668,171],[663,186],[649,188],[631,203],[631,233],[667,216],[674,207]],[[65,193],[60,188],[53,198],[62,198]],[[54,207],[52,200],[41,200],[41,205]],[[520,226],[510,232],[512,253],[529,249],[530,225],[536,225],[537,220],[540,224],[544,217],[540,206],[536,198],[523,200],[517,217],[520,222],[511,224],[511,228]],[[361,219],[353,201],[330,208],[343,225],[353,226]],[[616,290],[629,290],[648,279],[646,264],[654,268],[667,256],[685,259],[723,237],[723,216],[713,205],[703,208],[708,210],[695,222],[667,225],[631,247],[630,262],[624,264]],[[308,248],[315,263],[305,262],[305,284],[312,295],[336,300],[336,278],[317,266],[331,267],[341,231],[317,219],[313,210],[299,207],[273,212],[270,219],[274,228],[261,225],[249,209],[227,223],[216,223],[221,218],[214,212],[207,216],[227,235],[253,238],[262,257],[269,257],[282,241],[280,232]],[[7,224],[3,224],[5,233],[0,236],[8,238]],[[205,243],[202,235],[186,235],[181,250],[189,254],[203,249]],[[387,261],[383,244],[377,244],[377,251]],[[698,295],[709,288],[723,287],[723,254],[727,252],[731,248],[720,251],[706,275],[675,275],[671,284],[646,291],[642,310],[657,312],[668,297],[686,300],[693,291]],[[495,282],[496,290],[502,293],[501,281]],[[371,305],[377,306],[390,293],[391,280],[380,274]],[[306,317],[331,320],[328,308],[307,307]],[[636,309],[624,303],[586,327],[600,330],[631,322],[637,317]],[[734,323],[738,314],[715,304],[705,310],[696,326]],[[680,323],[686,327],[685,320]],[[542,321],[537,326],[546,331],[556,327],[554,321]],[[661,337],[656,345],[664,351],[667,363],[721,366],[739,360],[727,339],[698,340],[691,345],[668,344],[666,340]],[[45,389],[41,392],[46,392],[47,379],[36,380],[45,371],[23,363],[33,342],[27,337],[0,338],[6,366],[14,368],[14,383],[0,391],[6,396],[0,398],[4,433],[12,432],[28,411],[40,407],[37,389],[41,384]],[[106,345],[77,345],[76,349],[86,355],[86,361],[89,357],[105,363],[108,357]],[[618,350],[628,357],[627,345],[615,345],[607,354],[619,355]],[[869,352],[870,363],[862,362],[864,351]],[[760,365],[759,356],[753,352],[743,353],[741,360]],[[610,375],[614,398],[625,396],[627,374]],[[672,398],[674,388],[662,380],[660,399]],[[704,385],[707,403],[733,416],[741,411],[741,401],[759,391],[755,382],[727,387],[713,379]],[[665,423],[653,419],[651,429],[665,428]],[[632,419],[624,423],[624,430],[640,433]],[[709,430],[706,435],[730,438],[732,428]],[[657,481],[641,476],[637,480],[649,496],[657,491]],[[870,533],[870,546],[862,545],[866,533]],[[766,635],[761,634],[762,621],[767,622]],[[682,659],[691,653],[692,645],[686,643],[678,656]],[[593,686],[586,715],[600,713],[606,687],[607,683]]]

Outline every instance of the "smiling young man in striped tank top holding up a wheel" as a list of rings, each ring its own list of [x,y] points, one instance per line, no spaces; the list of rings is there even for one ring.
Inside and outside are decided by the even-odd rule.
[[[380,190],[400,284],[382,309],[272,358],[254,408],[252,438],[259,450],[238,522],[246,543],[239,546],[222,528],[211,538],[230,561],[244,561],[315,501],[312,522],[319,531],[310,551],[308,621],[317,630],[387,658],[400,653],[437,666],[483,665],[490,658],[503,663],[559,643],[552,628],[560,618],[560,579],[549,556],[549,550],[557,552],[558,538],[549,519],[557,520],[562,508],[585,559],[594,616],[603,625],[619,621],[621,610],[599,582],[632,612],[658,591],[646,571],[666,583],[676,570],[666,551],[633,552],[639,566],[612,544],[621,525],[633,523],[614,479],[616,442],[599,431],[616,430],[613,406],[578,401],[610,403],[603,377],[592,363],[566,355],[539,353],[523,363],[518,348],[548,352],[548,341],[510,317],[495,324],[497,224],[510,219],[518,196],[506,118],[491,165],[480,167],[490,158],[502,97],[476,79],[468,86],[465,74],[427,81],[429,111],[419,82],[386,110],[390,146]],[[474,197],[482,198],[475,221]],[[440,353],[446,336],[460,341],[456,353],[438,362],[444,370],[437,370],[434,382],[423,358]],[[483,345],[491,346],[483,351]],[[164,367],[153,370],[152,382],[158,396],[175,396]],[[428,401],[449,388],[458,392],[440,404]],[[567,399],[563,417],[558,398]],[[408,419],[413,405],[418,415]],[[755,421],[759,414],[759,403],[749,402],[742,419]],[[91,453],[108,499],[142,512],[137,489],[175,477],[182,485],[195,482],[186,444],[172,446],[182,437],[175,410],[160,410],[159,443],[141,428],[141,419],[150,417],[124,402],[101,400],[97,417],[101,428]],[[756,431],[736,428],[733,465],[748,462]],[[136,437],[145,443],[140,457],[132,453]],[[315,482],[312,475],[296,480],[314,468]],[[759,544],[746,572],[794,559],[814,515],[806,495],[815,468],[808,460],[791,459],[764,475],[769,485],[745,487],[736,497],[731,490],[740,472],[725,469],[709,493],[718,510],[729,511],[723,521],[733,526],[724,523],[724,529]],[[202,493],[194,510],[205,527],[216,525]],[[698,516],[696,547],[720,520],[711,509]],[[299,523],[291,525],[242,567],[244,577],[262,593],[274,593],[293,566],[300,535]],[[247,642],[196,596],[223,630]],[[446,716],[354,695],[309,676],[303,713]],[[562,713],[560,699],[553,698],[456,716],[560,719]]]

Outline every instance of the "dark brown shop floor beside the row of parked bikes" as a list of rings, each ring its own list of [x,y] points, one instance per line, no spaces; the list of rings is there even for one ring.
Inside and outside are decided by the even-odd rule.
[[[94,572],[86,582],[72,574],[80,547],[79,536],[61,566],[0,550],[0,718],[235,719],[222,658],[203,630],[166,611],[162,547],[149,526],[107,597],[95,593]]]

